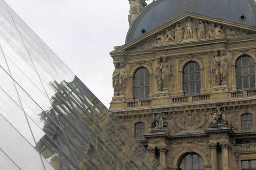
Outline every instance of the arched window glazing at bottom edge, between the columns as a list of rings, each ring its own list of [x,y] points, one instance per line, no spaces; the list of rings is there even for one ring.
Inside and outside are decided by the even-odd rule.
[[[196,153],[185,156],[179,165],[180,170],[204,170],[203,159]]]

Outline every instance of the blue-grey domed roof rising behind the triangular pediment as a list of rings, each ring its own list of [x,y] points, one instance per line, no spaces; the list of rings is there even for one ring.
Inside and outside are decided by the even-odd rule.
[[[134,20],[126,43],[188,12],[256,27],[255,0],[157,0]]]

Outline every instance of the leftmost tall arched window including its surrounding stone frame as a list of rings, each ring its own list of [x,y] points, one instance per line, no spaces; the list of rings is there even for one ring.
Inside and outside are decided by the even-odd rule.
[[[140,69],[144,69],[144,77],[141,76]],[[138,72],[138,78],[136,78],[136,74]],[[143,83],[144,84],[143,84]],[[142,84],[141,84],[142,83]],[[139,100],[139,99],[148,99],[150,97],[150,84],[151,84],[151,78],[150,78],[150,71],[146,67],[139,67],[137,68],[132,77],[132,91],[133,91],[133,99]],[[141,93],[141,89],[143,89],[143,92]],[[138,93],[138,95],[136,94]]]

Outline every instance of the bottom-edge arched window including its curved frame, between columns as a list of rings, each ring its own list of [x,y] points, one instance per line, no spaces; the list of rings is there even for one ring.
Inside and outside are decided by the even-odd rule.
[[[196,160],[198,164],[194,164]],[[181,168],[182,170],[204,170],[203,165],[204,165],[203,158],[199,154],[192,152],[192,153],[185,153],[180,157],[178,168]],[[189,166],[189,167],[186,167],[186,166]]]

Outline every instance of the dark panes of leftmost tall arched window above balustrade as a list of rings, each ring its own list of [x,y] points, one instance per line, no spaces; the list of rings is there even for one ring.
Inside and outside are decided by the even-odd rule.
[[[147,99],[149,95],[149,71],[147,68],[139,68],[133,77],[134,99]]]

